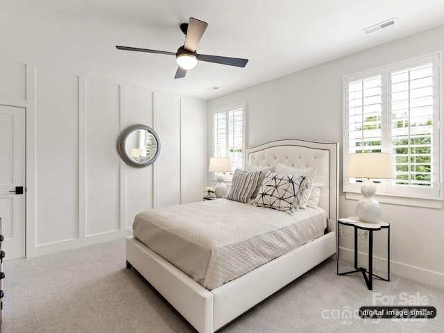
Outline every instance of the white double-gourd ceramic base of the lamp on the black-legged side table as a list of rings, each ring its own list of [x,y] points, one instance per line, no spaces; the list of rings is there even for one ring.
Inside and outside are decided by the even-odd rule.
[[[361,194],[364,196],[356,206],[356,215],[359,220],[366,223],[377,223],[381,217],[381,207],[377,200],[373,198],[376,192],[376,185],[370,179],[361,186]]]

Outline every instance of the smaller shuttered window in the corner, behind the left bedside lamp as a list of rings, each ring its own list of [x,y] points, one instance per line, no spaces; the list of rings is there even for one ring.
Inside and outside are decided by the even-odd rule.
[[[233,170],[244,167],[245,105],[213,112],[213,156],[231,157]]]

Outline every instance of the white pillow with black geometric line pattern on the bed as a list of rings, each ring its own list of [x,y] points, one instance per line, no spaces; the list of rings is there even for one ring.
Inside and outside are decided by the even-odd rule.
[[[283,212],[294,212],[300,200],[301,189],[307,187],[305,176],[268,173],[254,204]]]

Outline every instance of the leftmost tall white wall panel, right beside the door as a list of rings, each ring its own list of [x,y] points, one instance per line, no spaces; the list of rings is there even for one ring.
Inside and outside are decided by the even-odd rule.
[[[39,67],[35,78],[40,246],[78,237],[78,76]]]

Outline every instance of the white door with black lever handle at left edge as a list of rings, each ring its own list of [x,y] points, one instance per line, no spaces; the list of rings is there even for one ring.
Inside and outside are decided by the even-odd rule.
[[[23,194],[16,187],[23,187]],[[25,256],[25,194],[25,109],[0,105],[0,216],[5,259]]]

